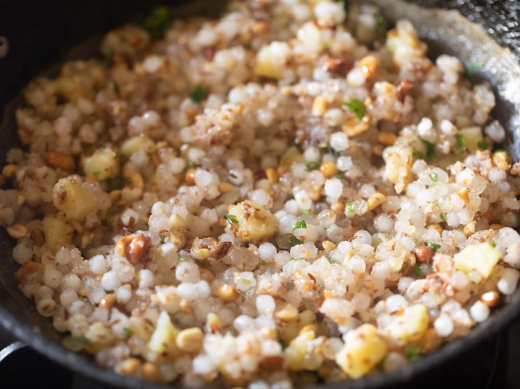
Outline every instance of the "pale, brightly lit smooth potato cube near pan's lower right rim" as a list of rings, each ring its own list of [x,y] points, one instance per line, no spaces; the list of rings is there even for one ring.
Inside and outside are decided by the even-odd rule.
[[[460,253],[453,255],[453,262],[457,270],[464,273],[478,271],[483,278],[488,278],[501,257],[500,250],[488,242],[483,242],[466,246]]]

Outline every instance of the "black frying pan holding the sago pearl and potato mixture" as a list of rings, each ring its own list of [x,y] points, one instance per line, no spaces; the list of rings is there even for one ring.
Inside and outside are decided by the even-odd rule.
[[[399,0],[373,0],[385,8],[390,20],[398,17],[411,19],[420,35],[430,44],[431,53],[455,54],[465,63],[483,63],[478,76],[489,80],[494,86],[497,106],[494,117],[508,129],[507,148],[515,160],[520,159],[520,2],[516,0],[419,0],[424,6],[459,8],[460,11],[484,27],[496,42],[509,48],[500,48],[489,39],[484,30],[469,24],[460,16],[449,13],[424,12],[410,4],[404,6]],[[148,0],[90,0],[73,3],[67,0],[7,1],[0,0],[0,36],[8,37],[10,53],[0,58],[0,163],[4,163],[6,150],[17,144],[13,107],[21,87],[34,75],[62,60],[67,49],[92,35],[98,35],[135,15],[137,10],[146,12],[158,3],[167,1]],[[177,15],[216,12],[223,1],[171,1],[181,3]],[[189,3],[185,7],[185,3]],[[94,40],[95,46],[95,40]],[[93,43],[73,51],[73,57],[82,57],[91,50]],[[90,51],[92,55],[94,52]],[[15,99],[15,102],[8,102]],[[5,113],[3,107],[6,107]],[[87,377],[112,386],[142,388],[144,382],[132,377],[123,377],[104,370],[88,356],[69,352],[60,345],[60,334],[53,329],[50,320],[37,314],[33,302],[25,298],[17,288],[15,271],[17,265],[10,258],[14,242],[5,231],[0,231],[0,325],[15,337],[31,345],[35,350],[51,357],[58,363],[80,372]],[[520,290],[510,296],[508,304],[494,311],[489,320],[478,325],[469,336],[454,341],[441,350],[410,363],[403,370],[392,374],[374,374],[357,381],[343,384],[343,388],[382,388],[409,381],[411,377],[426,374],[441,363],[460,356],[478,343],[504,329],[520,314]],[[149,388],[155,388],[147,384]],[[325,388],[327,386],[320,386]]]

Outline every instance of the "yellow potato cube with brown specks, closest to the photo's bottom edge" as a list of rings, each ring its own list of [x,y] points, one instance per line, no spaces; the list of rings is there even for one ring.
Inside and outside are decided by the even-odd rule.
[[[359,378],[370,372],[388,351],[383,336],[372,324],[363,324],[354,329],[343,348],[336,354],[336,363],[352,378]]]

